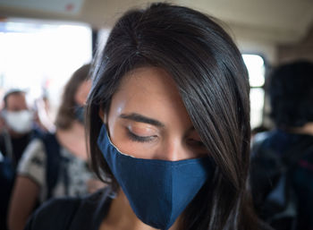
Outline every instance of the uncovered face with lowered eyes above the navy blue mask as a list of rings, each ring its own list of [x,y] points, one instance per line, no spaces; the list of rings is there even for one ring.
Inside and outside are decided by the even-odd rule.
[[[160,68],[126,74],[105,123],[114,145],[135,158],[176,161],[207,155],[173,79]]]

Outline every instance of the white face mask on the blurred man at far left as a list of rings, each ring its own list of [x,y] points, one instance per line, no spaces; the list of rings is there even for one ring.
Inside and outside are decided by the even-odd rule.
[[[4,111],[4,120],[6,124],[18,133],[30,132],[33,123],[33,113],[30,110],[21,110],[19,112]]]

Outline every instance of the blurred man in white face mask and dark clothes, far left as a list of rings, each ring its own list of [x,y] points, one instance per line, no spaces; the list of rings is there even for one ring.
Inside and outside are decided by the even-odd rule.
[[[41,131],[21,89],[8,90],[0,112],[0,228],[5,229],[8,200],[22,152]]]

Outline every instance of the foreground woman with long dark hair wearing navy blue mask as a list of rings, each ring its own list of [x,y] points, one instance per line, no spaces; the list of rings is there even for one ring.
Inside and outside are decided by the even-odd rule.
[[[247,192],[248,74],[216,22],[170,4],[125,13],[93,77],[90,153],[111,186],[47,204],[27,229],[264,228]],[[71,217],[53,225],[57,212]]]

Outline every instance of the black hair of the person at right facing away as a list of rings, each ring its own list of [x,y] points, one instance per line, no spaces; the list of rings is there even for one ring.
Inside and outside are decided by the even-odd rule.
[[[296,61],[278,66],[266,84],[271,116],[278,128],[313,122],[313,63]]]

